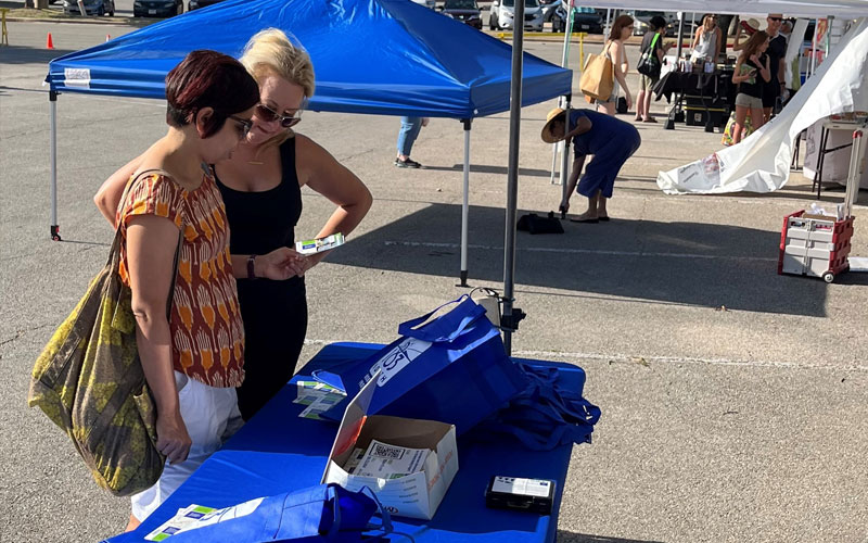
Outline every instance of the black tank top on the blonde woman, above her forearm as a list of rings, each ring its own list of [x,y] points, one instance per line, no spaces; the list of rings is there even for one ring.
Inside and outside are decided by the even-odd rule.
[[[295,138],[280,146],[283,176],[270,190],[246,192],[224,185],[217,187],[229,219],[229,251],[232,254],[266,254],[279,247],[294,248],[295,225],[302,216],[302,189],[295,171]]]

